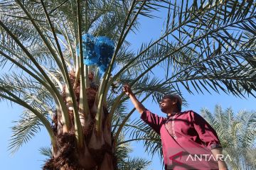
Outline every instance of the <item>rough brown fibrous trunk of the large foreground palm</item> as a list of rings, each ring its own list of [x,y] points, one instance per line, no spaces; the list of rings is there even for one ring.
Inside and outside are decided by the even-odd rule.
[[[70,74],[70,79],[75,77]],[[74,83],[75,81],[72,81]],[[79,82],[79,81],[78,81]],[[80,84],[75,88],[77,98],[80,96]],[[65,91],[65,86],[63,88]],[[61,169],[61,170],[113,170],[116,167],[114,163],[113,137],[110,125],[105,123],[107,119],[102,121],[102,135],[98,137],[95,132],[95,111],[94,103],[97,89],[87,89],[87,100],[90,107],[90,114],[87,119],[82,119],[82,130],[85,137],[84,147],[78,149],[75,141],[74,118],[73,111],[70,114],[70,132],[63,133],[61,123],[61,113],[56,113],[53,122],[55,123],[53,130],[57,139],[57,149],[53,153],[53,157],[46,162],[43,169]],[[65,93],[63,93],[65,100]],[[79,100],[79,99],[78,99]],[[79,101],[78,101],[79,103]],[[107,117],[107,109],[103,109],[104,118]]]

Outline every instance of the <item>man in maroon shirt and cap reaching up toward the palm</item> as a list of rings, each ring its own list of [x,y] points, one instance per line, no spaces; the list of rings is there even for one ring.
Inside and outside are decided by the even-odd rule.
[[[161,135],[165,169],[227,169],[218,136],[201,115],[181,112],[181,98],[166,95],[160,101],[159,117],[140,103],[128,85],[124,92],[141,114],[142,120]]]

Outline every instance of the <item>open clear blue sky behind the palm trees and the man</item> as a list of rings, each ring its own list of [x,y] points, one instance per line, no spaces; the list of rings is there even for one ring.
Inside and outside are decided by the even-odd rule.
[[[164,21],[164,13],[157,13],[160,18],[148,19],[140,18],[141,26],[137,35],[129,35],[128,40],[131,42],[131,48],[136,50],[137,47],[142,42],[149,42],[152,38],[158,38],[161,33]],[[155,73],[159,74],[159,73]],[[183,89],[183,98],[186,99],[188,106],[183,107],[183,111],[193,110],[197,113],[200,113],[201,108],[208,108],[211,112],[214,111],[216,104],[219,104],[223,108],[233,108],[233,111],[236,113],[240,110],[247,111],[256,111],[255,103],[256,98],[250,96],[249,98],[237,98],[233,95],[227,95],[224,93],[216,94],[188,94],[186,90]],[[159,106],[155,103],[151,103],[151,100],[144,103],[146,108],[151,110],[153,113],[164,116],[160,112]],[[129,106],[132,105],[129,103]],[[46,133],[46,130],[43,128],[41,132],[38,133],[32,140],[30,140],[26,145],[23,145],[21,149],[16,152],[16,154],[11,155],[7,150],[9,145],[9,140],[11,139],[11,126],[14,125],[12,121],[18,120],[18,116],[22,112],[22,108],[16,105],[11,106],[10,103],[5,101],[0,102],[1,108],[1,121],[0,124],[0,167],[4,170],[37,170],[41,169],[43,161],[46,159],[43,155],[38,152],[40,147],[48,147],[50,145],[50,139]],[[132,118],[139,118],[139,113],[134,112]],[[159,170],[161,169],[161,162],[159,157],[149,157],[145,152],[141,143],[133,142],[132,148],[134,152],[131,154],[133,157],[144,157],[152,161],[149,169]]]

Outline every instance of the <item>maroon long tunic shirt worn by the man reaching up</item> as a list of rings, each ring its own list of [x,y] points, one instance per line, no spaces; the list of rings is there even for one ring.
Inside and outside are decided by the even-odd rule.
[[[163,118],[150,111],[141,116],[161,135],[165,169],[218,169],[210,149],[220,146],[213,128],[193,111]]]

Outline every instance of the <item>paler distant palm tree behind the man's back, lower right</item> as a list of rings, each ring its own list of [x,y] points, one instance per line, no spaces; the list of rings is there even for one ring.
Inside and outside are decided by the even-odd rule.
[[[240,111],[235,114],[231,108],[223,111],[215,106],[214,113],[204,108],[201,114],[218,133],[223,154],[232,159],[226,159],[230,169],[255,169],[256,113]]]

